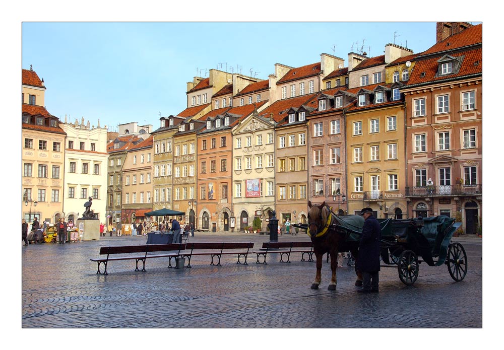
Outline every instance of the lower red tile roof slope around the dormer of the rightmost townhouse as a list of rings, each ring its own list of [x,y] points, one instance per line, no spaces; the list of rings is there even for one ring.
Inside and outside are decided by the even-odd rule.
[[[467,29],[466,29],[467,30]],[[456,78],[482,74],[483,73],[483,49],[476,48],[464,52],[458,52],[451,56],[460,57],[464,56],[462,64],[457,74],[449,74],[444,76],[437,76],[438,60],[443,55],[438,55],[429,59],[416,61],[415,69],[411,72],[407,86],[420,83],[436,82],[441,80],[453,80]],[[425,75],[422,77],[422,73]]]

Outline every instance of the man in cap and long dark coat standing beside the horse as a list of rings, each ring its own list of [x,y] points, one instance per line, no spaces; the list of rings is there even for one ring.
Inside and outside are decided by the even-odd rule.
[[[359,243],[357,268],[362,272],[362,289],[359,293],[378,293],[378,271],[380,271],[380,223],[373,217],[373,209],[362,208],[364,218]]]

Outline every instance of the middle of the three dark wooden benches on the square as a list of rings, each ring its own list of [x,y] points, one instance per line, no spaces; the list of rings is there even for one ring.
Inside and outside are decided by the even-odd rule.
[[[225,254],[236,254],[238,256],[238,261],[236,262],[237,264],[242,264],[240,261],[240,257],[244,256],[245,261],[243,262],[243,265],[247,265],[247,255],[250,253],[250,249],[254,248],[254,242],[246,242],[246,243],[187,243],[185,245],[185,250],[190,250],[191,252],[182,252],[180,253],[181,257],[187,257],[188,258],[188,263],[187,267],[191,267],[191,257],[194,255],[210,255],[212,256],[212,261],[210,265],[216,265],[216,266],[222,266],[220,264],[220,259],[222,255]],[[238,249],[242,249],[240,251],[237,251]],[[244,250],[246,249],[246,251]],[[206,251],[203,252],[201,250],[214,250],[214,251]],[[224,251],[226,250],[226,251]],[[232,251],[228,251],[232,250]],[[219,261],[217,264],[214,263],[214,258],[218,257]]]

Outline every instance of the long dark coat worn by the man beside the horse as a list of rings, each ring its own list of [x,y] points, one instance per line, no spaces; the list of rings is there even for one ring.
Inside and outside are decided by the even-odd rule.
[[[362,227],[357,268],[361,272],[380,271],[380,223],[372,215]]]

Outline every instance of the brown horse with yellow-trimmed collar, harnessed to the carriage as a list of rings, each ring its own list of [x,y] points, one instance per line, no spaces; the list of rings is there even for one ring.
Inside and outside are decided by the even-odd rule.
[[[348,231],[335,227],[335,225],[346,226],[345,221],[348,221],[348,226],[354,231],[362,231],[364,219],[357,215],[345,216],[345,220],[331,213],[330,209],[323,202],[321,205],[312,204],[308,201],[308,235],[313,243],[313,252],[317,257],[317,274],[311,285],[311,289],[319,289],[321,283],[322,258],[325,253],[329,253],[331,257],[331,283],[327,288],[330,291],[336,289],[336,267],[338,252],[350,251],[358,259],[358,240],[348,240]],[[350,223],[351,222],[351,223]],[[355,286],[362,286],[362,275],[357,269],[357,281]]]

